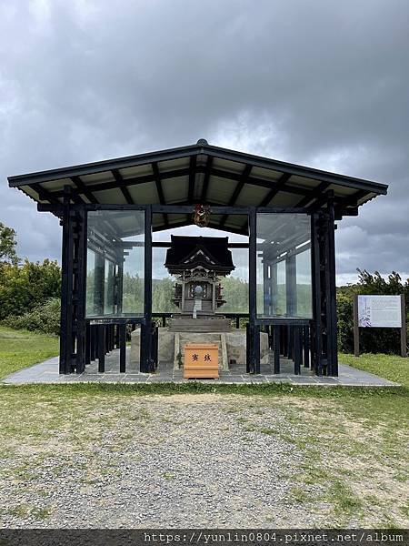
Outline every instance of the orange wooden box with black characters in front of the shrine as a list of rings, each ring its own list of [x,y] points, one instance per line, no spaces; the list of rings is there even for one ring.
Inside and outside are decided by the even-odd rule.
[[[185,379],[219,379],[219,346],[195,343],[185,345]]]

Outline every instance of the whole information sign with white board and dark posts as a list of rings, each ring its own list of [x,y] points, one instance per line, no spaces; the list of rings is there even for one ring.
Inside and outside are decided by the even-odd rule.
[[[354,355],[359,357],[360,328],[398,328],[401,330],[401,356],[406,357],[406,309],[404,295],[354,295]]]

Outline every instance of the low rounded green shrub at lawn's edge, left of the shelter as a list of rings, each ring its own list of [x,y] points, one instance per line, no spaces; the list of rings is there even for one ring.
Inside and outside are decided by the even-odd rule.
[[[5,326],[14,329],[27,329],[45,334],[60,333],[61,302],[59,298],[49,298],[45,303],[39,303],[24,315],[10,316],[3,321]]]

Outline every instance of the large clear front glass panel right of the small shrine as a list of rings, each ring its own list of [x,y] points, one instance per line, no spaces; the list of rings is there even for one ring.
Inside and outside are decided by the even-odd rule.
[[[257,316],[311,319],[311,219],[257,214]]]

